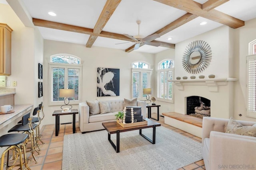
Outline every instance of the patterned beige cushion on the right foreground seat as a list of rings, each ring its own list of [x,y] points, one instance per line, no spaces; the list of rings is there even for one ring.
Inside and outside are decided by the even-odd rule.
[[[233,117],[230,117],[226,133],[256,137],[256,124],[252,126],[243,126]]]

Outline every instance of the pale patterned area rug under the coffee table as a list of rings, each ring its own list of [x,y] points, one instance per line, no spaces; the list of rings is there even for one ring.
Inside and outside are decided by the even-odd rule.
[[[142,129],[152,139],[152,128]],[[116,142],[116,135],[111,135]],[[202,144],[165,127],[156,127],[156,144],[139,130],[120,133],[120,152],[106,130],[64,136],[62,170],[177,170],[202,160]]]

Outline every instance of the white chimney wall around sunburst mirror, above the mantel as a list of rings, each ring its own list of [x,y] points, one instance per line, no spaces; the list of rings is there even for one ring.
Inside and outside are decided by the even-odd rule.
[[[192,75],[198,78],[204,75],[208,78],[209,74],[215,74],[216,78],[229,77],[229,27],[221,26],[201,35],[187,39],[175,45],[175,78],[177,76],[188,78]],[[212,61],[208,68],[199,74],[190,74],[182,66],[182,57],[186,47],[196,40],[206,41],[212,49]]]

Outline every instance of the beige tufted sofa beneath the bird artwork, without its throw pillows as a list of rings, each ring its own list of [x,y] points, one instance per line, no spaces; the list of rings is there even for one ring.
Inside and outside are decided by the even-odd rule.
[[[86,102],[79,103],[79,127],[82,133],[104,129],[103,122],[116,121],[114,116],[118,111],[124,110],[124,100],[106,100],[110,106],[110,113],[89,114],[89,106]],[[146,102],[137,101],[137,106],[141,107],[141,114],[146,117]]]

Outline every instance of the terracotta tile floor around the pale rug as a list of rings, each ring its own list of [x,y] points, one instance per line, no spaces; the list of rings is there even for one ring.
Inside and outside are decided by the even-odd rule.
[[[152,113],[152,117],[156,117],[155,113]],[[159,123],[163,127],[171,129],[185,137],[191,138],[195,141],[202,142],[201,138],[196,137],[190,133],[164,124],[164,117],[159,117]],[[62,149],[63,149],[63,137],[64,135],[72,133],[72,124],[60,125],[60,132],[58,137],[55,136],[55,125],[44,125],[41,133],[43,135],[43,141],[45,144],[40,145],[40,154],[35,154],[38,159],[38,164],[35,164],[32,156],[29,159],[32,160],[30,168],[32,170],[61,170],[62,169]],[[76,123],[76,133],[80,133],[78,123]],[[200,160],[179,170],[205,170],[204,161]]]

